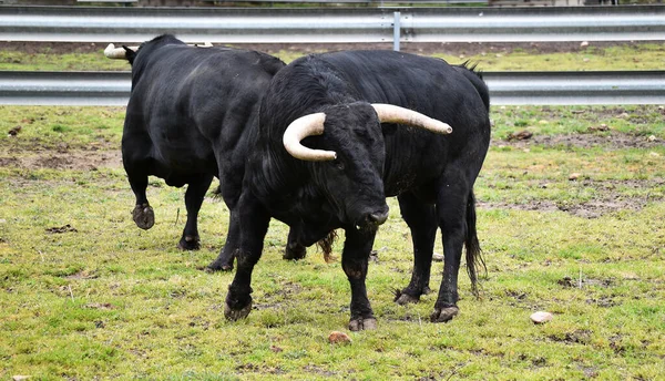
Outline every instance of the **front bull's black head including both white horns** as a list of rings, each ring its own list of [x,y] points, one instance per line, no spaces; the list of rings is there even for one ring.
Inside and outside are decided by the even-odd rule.
[[[338,218],[360,228],[376,229],[388,217],[381,123],[406,124],[439,134],[452,132],[450,125],[408,109],[358,102],[301,116],[290,123],[283,137],[291,156],[325,162],[313,166],[315,182],[325,189]],[[321,135],[320,146],[330,151],[300,143],[313,135]]]

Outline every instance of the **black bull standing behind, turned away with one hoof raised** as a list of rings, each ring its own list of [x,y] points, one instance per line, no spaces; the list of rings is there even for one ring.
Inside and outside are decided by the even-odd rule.
[[[132,64],[132,93],[126,109],[122,157],[136,196],[133,217],[149,229],[154,213],[146,197],[147,178],[167,185],[188,184],[187,222],[178,247],[197,249],[198,210],[213,177],[232,210],[241,195],[248,126],[273,75],[284,63],[268,54],[237,49],[188,47],[173,35],[160,35],[135,52],[125,48]],[[237,226],[237,224],[232,224]],[[219,259],[208,266],[228,269],[237,230],[229,229]],[[285,257],[301,257],[297,244]]]

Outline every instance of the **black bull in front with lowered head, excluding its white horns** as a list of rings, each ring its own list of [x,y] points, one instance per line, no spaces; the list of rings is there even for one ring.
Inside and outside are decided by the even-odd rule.
[[[399,124],[380,124],[371,104],[388,103],[448,123],[436,135]],[[283,145],[289,124],[325,113],[320,136],[303,144],[335,152],[331,161],[294,158]],[[365,279],[387,196],[397,196],[413,240],[413,274],[397,298],[417,301],[428,290],[437,227],[444,268],[432,321],[458,312],[462,247],[475,291],[480,247],[473,184],[490,143],[488,87],[471,69],[390,51],[350,51],[298,59],[280,70],[264,95],[237,212],[237,271],[226,297],[227,319],[252,307],[250,278],[272,217],[291,226],[309,246],[344,228],[342,268],[351,286],[351,330],[376,327]],[[320,151],[317,151],[320,153]],[[294,234],[294,231],[297,231]]]

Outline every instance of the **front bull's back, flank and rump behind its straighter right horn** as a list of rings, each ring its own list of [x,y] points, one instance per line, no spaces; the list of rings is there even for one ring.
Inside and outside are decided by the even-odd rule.
[[[365,101],[390,103],[450,124],[441,136],[416,128],[383,125],[385,185],[397,195],[437,178],[452,162],[480,169],[490,138],[489,94],[482,80],[432,58],[391,51],[323,54],[352,83]],[[478,157],[478,158],[477,158]]]

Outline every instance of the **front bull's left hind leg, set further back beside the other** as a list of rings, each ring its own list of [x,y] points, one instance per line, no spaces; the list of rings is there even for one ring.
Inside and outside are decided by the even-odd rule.
[[[437,237],[437,215],[433,205],[428,205],[412,193],[398,197],[402,218],[411,230],[413,241],[413,272],[407,288],[398,290],[395,301],[399,305],[417,302],[420,296],[430,291],[429,279],[432,253]]]

